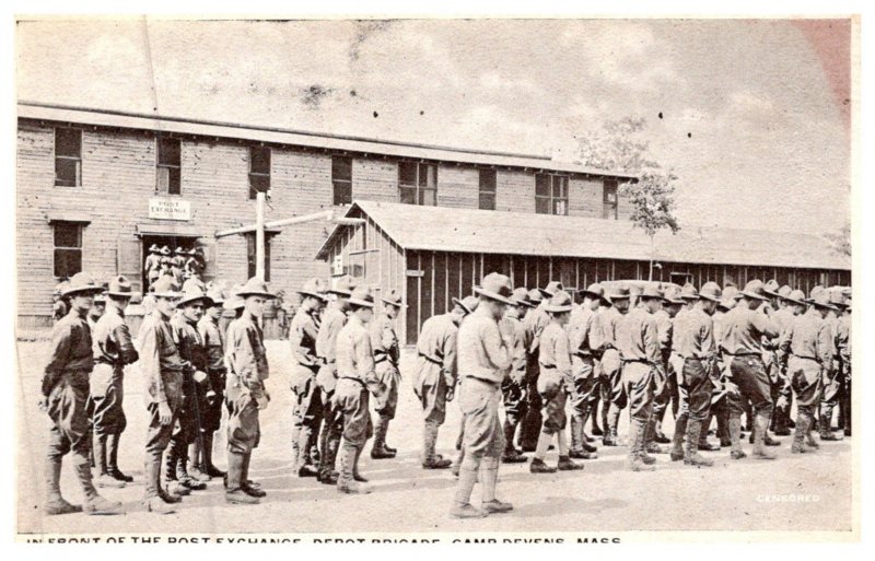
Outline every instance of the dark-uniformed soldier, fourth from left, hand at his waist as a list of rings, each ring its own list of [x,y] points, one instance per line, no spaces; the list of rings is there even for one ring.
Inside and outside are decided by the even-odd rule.
[[[199,491],[207,488],[210,477],[191,466],[188,471],[188,458],[200,457],[202,448],[203,410],[209,383],[207,370],[209,361],[203,340],[198,332],[198,322],[203,311],[212,307],[212,301],[200,287],[189,285],[176,304],[177,313],[171,319],[174,340],[179,357],[186,363],[183,370],[183,400],[179,406],[177,426],[171,437],[165,465],[165,478],[176,480],[182,486]]]

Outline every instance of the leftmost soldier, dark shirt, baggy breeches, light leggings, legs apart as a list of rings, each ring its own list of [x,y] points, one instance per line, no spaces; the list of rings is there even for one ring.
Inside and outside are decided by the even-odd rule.
[[[40,408],[51,419],[46,454],[46,505],[48,515],[84,512],[116,514],[121,503],[107,501],[92,482],[91,419],[89,418],[89,377],[94,367],[91,330],[85,315],[94,296],[103,292],[84,272],[75,273],[62,296],[69,299],[70,312],[51,332],[51,353],[43,373]],[[85,498],[84,506],[74,506],[61,496],[60,475],[63,456],[72,453],[73,470]]]

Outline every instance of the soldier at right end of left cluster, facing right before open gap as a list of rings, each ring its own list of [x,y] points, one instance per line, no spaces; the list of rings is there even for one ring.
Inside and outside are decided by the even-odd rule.
[[[258,411],[270,395],[265,381],[270,375],[265,337],[259,325],[265,302],[273,299],[265,282],[253,277],[240,290],[244,302],[241,316],[228,328],[228,489],[225,500],[233,504],[258,504],[267,493],[249,482],[249,461],[261,437]]]

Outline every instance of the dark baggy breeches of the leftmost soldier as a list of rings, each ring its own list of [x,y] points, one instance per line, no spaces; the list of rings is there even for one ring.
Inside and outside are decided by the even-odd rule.
[[[72,452],[88,461],[91,452],[89,373],[65,373],[47,400],[51,419],[47,455],[58,458]]]

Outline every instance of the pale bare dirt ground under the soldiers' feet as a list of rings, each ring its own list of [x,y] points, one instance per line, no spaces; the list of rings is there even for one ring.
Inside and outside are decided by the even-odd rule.
[[[398,418],[389,444],[398,457],[362,457],[362,472],[371,479],[369,495],[343,495],[332,487],[291,474],[291,391],[285,341],[269,341],[272,402],[261,416],[261,445],[253,456],[252,477],[268,492],[261,504],[230,505],[221,481],[186,498],[172,515],[144,512],[142,498],[145,407],[143,385],[136,367],[126,378],[128,429],[121,440],[120,468],[136,478],[125,489],[107,489],[105,496],[122,501],[127,513],[93,517],[82,514],[46,517],[43,455],[48,418],[37,408],[45,341],[19,342],[18,530],[42,533],[456,533],[456,531],[611,531],[611,530],[851,530],[852,441],[824,443],[817,454],[790,454],[784,437],[774,461],[732,461],[728,451],[708,453],[710,469],[685,467],[660,456],[655,472],[623,469],[622,447],[599,447],[600,457],[586,460],[583,471],[534,476],[527,464],[502,465],[498,494],[514,504],[509,514],[477,521],[447,516],[455,480],[447,471],[421,469],[420,407],[410,387],[412,357],[401,362],[404,385]],[[670,417],[670,416],[669,416]],[[459,424],[458,406],[451,404],[439,451],[454,455]],[[670,419],[666,432],[673,429]],[[621,436],[628,418],[621,419]],[[712,437],[713,440],[713,437]],[[217,464],[224,465],[224,439],[217,437]],[[366,451],[370,451],[370,444]],[[548,463],[555,464],[551,452]],[[68,500],[81,493],[65,464],[61,481]],[[474,502],[479,501],[479,486]]]

